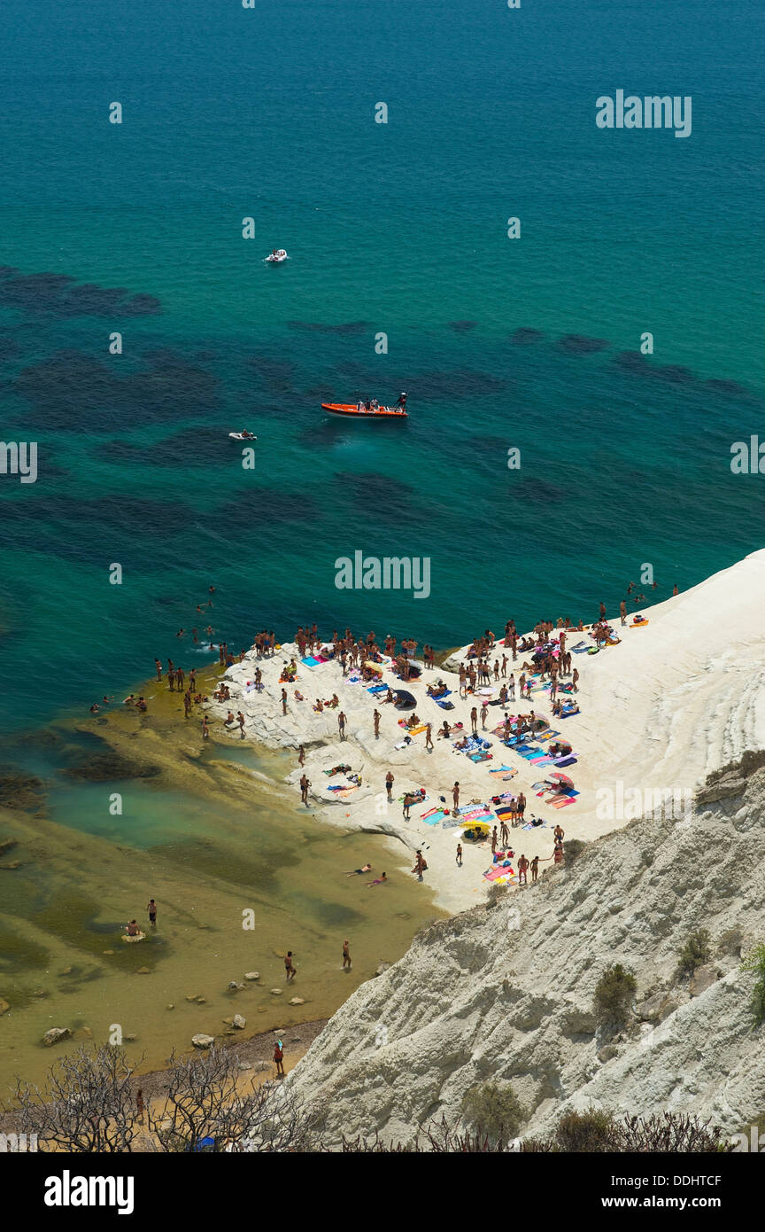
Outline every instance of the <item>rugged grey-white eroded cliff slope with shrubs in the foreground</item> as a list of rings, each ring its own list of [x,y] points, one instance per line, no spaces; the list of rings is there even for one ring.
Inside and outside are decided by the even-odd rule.
[[[718,775],[681,821],[643,818],[536,886],[439,922],[335,1014],[288,1083],[325,1136],[406,1141],[456,1119],[464,1094],[512,1083],[549,1130],[569,1108],[688,1111],[737,1131],[765,1109],[765,1027],[740,954],[765,941],[765,769]],[[710,961],[678,973],[689,934]],[[637,981],[631,1021],[598,1026],[614,962]]]

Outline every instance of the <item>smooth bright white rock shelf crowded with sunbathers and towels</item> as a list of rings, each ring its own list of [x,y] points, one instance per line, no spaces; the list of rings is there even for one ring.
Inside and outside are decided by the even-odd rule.
[[[539,855],[550,860],[557,822],[567,841],[592,840],[643,813],[646,800],[656,801],[657,792],[665,801],[674,801],[669,807],[679,812],[679,821],[685,818],[692,788],[706,774],[740,756],[745,748],[765,744],[764,610],[765,551],[681,595],[641,609],[648,617],[643,627],[622,628],[619,615],[610,614],[615,636],[621,641],[598,654],[585,653],[594,644],[589,633],[571,631],[567,649],[584,643],[582,653],[573,654],[573,667],[579,670],[581,715],[552,721],[549,694],[539,683],[530,701],[510,702],[507,707],[510,715],[528,715],[534,708],[536,715],[550,718],[551,727],[573,745],[577,760],[565,772],[571,775],[579,795],[562,809],[550,807],[549,800],[540,798],[534,787],[556,768],[535,768],[493,734],[492,728],[503,718],[499,705],[488,707],[486,731],[481,732],[491,742],[491,760],[474,764],[453,748],[451,740],[435,738],[444,718],[453,724],[461,722],[470,732],[470,710],[480,705],[480,699],[472,695],[459,696],[454,669],[466,660],[467,647],[453,653],[445,665],[423,671],[417,681],[398,681],[392,665],[384,665],[382,681],[411,692],[417,715],[433,724],[433,750],[426,750],[423,732],[411,744],[397,748],[405,736],[398,719],[407,716],[390,705],[378,707],[381,722],[375,739],[374,696],[363,681],[343,678],[339,664],[332,660],[315,667],[299,662],[296,681],[285,686],[289,700],[287,715],[282,715],[279,675],[285,662],[298,658],[293,644],[283,644],[273,658],[257,659],[251,652],[242,663],[225,674],[221,671],[230,689],[230,702],[210,702],[210,718],[215,734],[220,736],[225,728],[215,719],[225,719],[229,708],[241,710],[246,717],[246,739],[273,749],[296,750],[304,744],[305,772],[311,781],[310,811],[331,824],[391,835],[401,848],[401,857],[396,860],[394,855],[392,860],[398,870],[407,870],[407,876],[414,850],[422,848],[428,861],[426,881],[435,891],[438,906],[461,910],[480,901],[490,886],[483,873],[492,862],[491,848],[488,843],[464,843],[464,865],[459,867],[455,848],[461,830],[445,829],[442,823],[428,825],[422,818],[442,797],[451,804],[455,780],[460,782],[460,804],[471,800],[488,802],[503,790],[525,793],[526,817],[534,813],[546,824],[510,830],[517,856],[523,853],[526,857]],[[628,622],[633,615],[628,614]],[[509,649],[498,641],[490,660],[502,659],[503,653],[509,658]],[[508,675],[514,670],[518,680],[525,658],[528,654],[519,652],[518,660],[508,663]],[[262,691],[248,684],[256,668],[262,671]],[[449,701],[454,710],[444,711],[427,696],[428,683],[439,676],[451,689]],[[295,700],[295,689],[305,701]],[[326,701],[333,694],[339,707],[316,713],[315,700]],[[497,695],[498,686],[493,700]],[[341,708],[347,716],[344,740],[337,723]],[[239,731],[230,738],[239,742]],[[362,786],[343,800],[332,798],[327,790],[330,782],[341,782],[343,777],[330,779],[325,774],[338,764],[349,764],[362,776]],[[499,776],[490,771],[502,765],[517,772],[512,782],[498,787]],[[387,770],[395,775],[392,804],[385,798]],[[287,782],[296,793],[300,772],[295,760]],[[407,822],[398,797],[421,786],[428,798],[412,808]],[[550,866],[541,864],[541,870]],[[370,892],[378,893],[380,887]]]

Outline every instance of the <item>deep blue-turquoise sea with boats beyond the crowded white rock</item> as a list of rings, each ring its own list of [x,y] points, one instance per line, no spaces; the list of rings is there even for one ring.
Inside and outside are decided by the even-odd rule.
[[[208,618],[236,648],[314,620],[445,647],[761,547],[765,480],[729,460],[765,437],[764,26],[4,0],[0,439],[39,473],[0,476],[0,726],[204,662],[175,634]],[[690,95],[691,136],[598,129],[617,89]],[[401,389],[406,425],[321,411]],[[430,596],[337,590],[357,549],[429,557]]]

